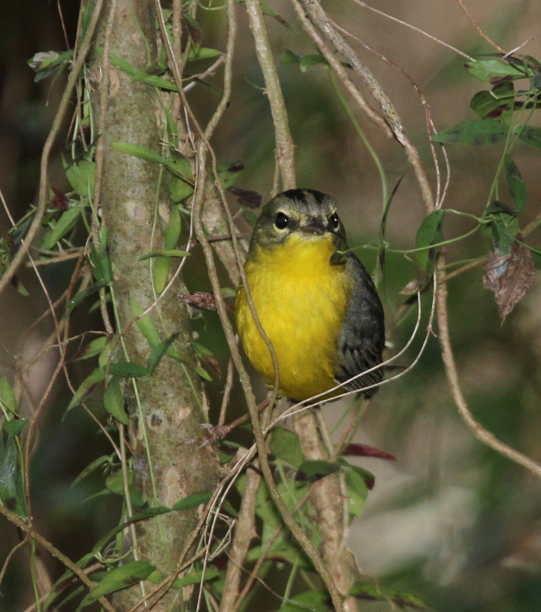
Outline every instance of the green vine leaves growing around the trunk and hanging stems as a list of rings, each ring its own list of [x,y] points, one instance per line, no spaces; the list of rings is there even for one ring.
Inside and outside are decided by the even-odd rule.
[[[81,17],[83,32],[88,27],[90,4],[84,3]],[[261,4],[261,8],[267,17],[282,24],[288,31],[291,29],[274,9],[264,3]],[[196,88],[207,88],[221,95],[221,89],[212,83],[201,81],[200,73],[220,58],[222,51],[212,47],[203,47],[204,28],[194,14],[187,11],[182,12],[182,28],[184,29],[182,79],[185,80],[186,86],[191,84]],[[171,13],[165,10],[164,17],[166,28],[171,35]],[[100,52],[103,53],[103,50]],[[157,62],[154,65],[147,65],[143,70],[136,69],[116,54],[110,54],[109,57],[113,67],[129,75],[132,80],[157,89],[160,100],[164,104],[163,144],[157,141],[155,149],[138,143],[115,142],[111,144],[111,147],[119,153],[159,166],[160,171],[163,171],[166,193],[170,196],[167,215],[162,215],[160,211],[160,219],[162,221],[165,219],[163,248],[152,248],[146,253],[140,253],[138,257],[138,261],[145,262],[145,265],[152,269],[152,291],[154,291],[153,295],[158,304],[159,296],[168,286],[177,264],[184,265],[188,262],[188,266],[195,267],[194,276],[198,277],[198,280],[203,277],[200,269],[196,267],[198,264],[193,261],[197,257],[197,251],[196,248],[192,250],[194,242],[190,233],[192,228],[190,197],[194,193],[196,184],[196,168],[192,157],[188,159],[179,152],[180,130],[176,125],[177,119],[173,117],[170,108],[167,108],[164,102],[168,100],[169,95],[178,92],[164,48],[160,49]],[[29,64],[35,71],[35,80],[39,81],[51,75],[56,78],[65,67],[70,65],[72,59],[71,50],[61,54],[51,51],[36,54]],[[282,55],[282,64],[289,66],[291,70],[296,70],[296,74],[300,74],[302,78],[313,76],[316,72],[322,75],[330,74],[328,62],[319,53],[296,54],[293,51],[285,50]],[[351,65],[346,62],[342,62],[342,65],[348,70],[351,69]],[[446,233],[450,231],[448,230],[449,214],[461,215],[463,211],[441,208],[431,212],[420,222],[412,248],[402,250],[390,248],[385,236],[387,215],[400,181],[393,194],[386,197],[386,185],[383,178],[384,212],[380,239],[375,247],[369,245],[369,248],[378,253],[382,269],[384,269],[387,254],[411,255],[415,268],[412,274],[417,275],[414,289],[423,291],[427,291],[429,281],[435,272],[439,250],[446,244],[458,242],[477,232],[488,237],[496,255],[507,258],[505,261],[498,262],[498,278],[504,277],[506,269],[509,269],[510,266],[517,267],[517,261],[522,262],[528,257],[533,257],[537,266],[541,267],[539,252],[536,252],[535,248],[526,242],[528,234],[535,229],[535,226],[526,226],[524,222],[527,215],[529,215],[528,218],[532,217],[529,207],[531,208],[535,198],[532,198],[531,195],[528,198],[528,185],[515,162],[515,159],[518,160],[515,155],[517,147],[523,144],[535,151],[535,153],[532,151],[532,155],[541,151],[541,129],[531,125],[532,118],[540,104],[541,65],[531,56],[523,56],[521,59],[510,56],[470,61],[465,67],[469,75],[489,86],[477,92],[471,99],[470,108],[477,119],[463,121],[442,130],[433,135],[432,140],[446,146],[453,144],[476,147],[496,146],[499,147],[498,151],[501,151],[501,161],[495,172],[487,204],[480,207],[476,215],[469,215],[474,220],[474,229],[458,237],[447,237]],[[528,88],[518,89],[518,81],[523,80],[528,81]],[[130,425],[130,417],[126,412],[124,401],[126,387],[136,385],[138,379],[152,380],[160,364],[167,359],[175,360],[183,371],[188,372],[188,378],[190,375],[195,375],[207,382],[212,381],[213,377],[214,379],[222,378],[220,365],[212,351],[207,348],[205,340],[198,338],[200,341],[194,341],[192,337],[181,338],[178,334],[171,334],[160,326],[159,316],[154,317],[155,305],[147,312],[147,305],[138,304],[135,299],[132,299],[130,304],[133,329],[136,327],[146,341],[147,353],[143,359],[140,359],[141,363],[131,360],[125,353],[122,347],[121,329],[118,325],[118,318],[116,318],[119,297],[114,295],[115,278],[110,256],[110,236],[107,228],[102,225],[100,211],[94,207],[96,187],[94,146],[100,135],[94,132],[95,120],[91,116],[88,103],[89,93],[83,81],[80,83],[80,92],[81,107],[78,109],[74,130],[77,136],[73,136],[69,159],[63,160],[65,179],[69,182],[69,187],[64,193],[53,185],[50,186],[47,210],[42,221],[38,256],[41,259],[40,263],[54,265],[57,259],[63,261],[62,258],[66,256],[66,253],[74,253],[78,256],[77,261],[80,261],[83,269],[82,274],[74,274],[72,282],[62,286],[62,291],[65,291],[65,308],[63,310],[57,308],[56,319],[63,316],[69,318],[74,312],[76,315],[86,316],[97,306],[102,307],[102,312],[105,310],[105,312],[113,313],[113,325],[111,326],[113,331],[111,327],[105,327],[108,330],[107,335],[100,331],[102,335],[92,337],[91,340],[87,335],[81,336],[77,348],[70,351],[69,357],[65,360],[66,367],[72,362],[83,362],[83,365],[89,366],[89,370],[85,370],[81,377],[83,381],[75,384],[75,391],[65,412],[75,411],[77,406],[88,403],[88,400],[91,399],[92,405],[89,407],[92,408],[92,413],[97,420],[103,420],[106,423],[101,424],[102,431],[111,436],[115,446],[115,452],[101,454],[98,458],[91,460],[75,477],[72,488],[83,489],[91,481],[98,482],[100,490],[85,493],[84,503],[91,504],[97,499],[116,498],[122,500],[122,509],[114,528],[104,529],[105,534],[103,531],[100,532],[95,538],[97,541],[91,552],[84,554],[77,562],[78,567],[89,572],[88,575],[95,584],[94,588],[88,590],[82,586],[75,586],[78,585],[78,581],[72,572],[67,571],[53,585],[47,598],[42,602],[41,609],[45,611],[53,605],[61,608],[62,605],[70,604],[77,606],[76,610],[82,610],[95,603],[99,597],[125,589],[138,581],[149,580],[160,584],[168,578],[171,578],[171,588],[179,589],[179,591],[190,584],[201,584],[204,594],[219,601],[226,587],[225,570],[220,563],[224,558],[224,551],[226,554],[230,551],[228,538],[231,530],[234,529],[234,521],[239,518],[241,510],[239,498],[242,498],[245,493],[246,472],[243,471],[237,477],[235,487],[231,489],[228,496],[222,496],[213,502],[212,509],[203,507],[211,500],[211,493],[193,494],[180,499],[171,507],[165,507],[157,505],[156,499],[146,499],[137,490],[133,484],[131,459],[121,459],[120,453],[116,452],[116,445],[122,443],[124,427]],[[335,93],[338,102],[351,120],[355,133],[365,144],[368,143],[364,139],[354,113],[351,113],[348,107],[348,102],[341,97],[340,88],[335,88]],[[204,111],[206,112],[206,109]],[[84,136],[85,130],[89,135]],[[80,138],[80,143],[77,142],[77,138]],[[370,150],[369,144],[367,147],[370,155],[376,159],[377,156]],[[379,160],[376,165],[378,163]],[[378,165],[378,168],[383,176],[381,164]],[[220,185],[229,194],[237,196],[239,215],[253,225],[256,215],[252,209],[259,204],[261,196],[236,185],[243,171],[244,162],[229,163],[219,159],[207,168],[211,182]],[[30,210],[4,236],[0,237],[0,274],[9,267],[13,256],[23,244],[34,214],[35,211]],[[528,232],[524,231],[525,228],[528,228]],[[223,236],[217,236],[217,238],[222,239]],[[182,240],[185,240],[184,244],[188,244],[189,247],[182,247]],[[517,255],[518,245],[523,250]],[[338,262],[344,257],[344,253],[337,252],[333,255],[332,261]],[[20,282],[17,279],[16,281],[14,285],[18,291],[22,294],[26,293]],[[527,284],[524,280],[523,285]],[[504,291],[505,288],[502,286],[494,289],[496,296],[501,296]],[[100,293],[100,302],[90,304],[88,298],[91,296],[95,298],[98,293]],[[193,310],[200,308],[197,302],[194,303]],[[87,304],[90,304],[88,310],[84,310]],[[159,311],[159,308],[156,310]],[[60,345],[64,341],[67,342],[64,338],[59,338]],[[195,356],[198,363],[202,365],[193,367],[191,361],[186,358],[188,351],[190,356]],[[214,372],[213,376],[209,375],[207,370]],[[72,379],[73,381],[75,378]],[[99,395],[97,390],[102,391],[102,395]],[[0,502],[19,517],[28,520],[20,442],[28,422],[18,415],[15,394],[6,377],[0,379],[0,407],[3,415],[0,445]],[[73,413],[70,414],[71,416]],[[233,452],[239,449],[244,452],[238,442],[231,442],[230,445],[233,447]],[[193,449],[194,453],[206,452],[197,446],[193,446]],[[340,478],[348,498],[349,521],[362,517],[368,493],[375,480],[373,474],[367,469],[353,465],[340,456],[329,461],[306,460],[296,433],[283,427],[272,429],[269,449],[278,492],[285,500],[286,507],[293,514],[294,520],[308,534],[316,549],[322,545],[322,535],[316,522],[315,507],[309,499],[312,483],[324,479]],[[241,454],[239,452],[239,456]],[[229,467],[227,463],[231,461],[231,456],[226,456],[224,453],[224,469]],[[90,459],[91,457],[88,458]],[[248,469],[257,468],[255,465],[250,465]],[[126,518],[127,507],[134,510],[130,518]],[[201,516],[208,511],[208,517],[215,520],[218,526],[215,531],[210,532],[211,537],[208,539],[201,537],[201,540],[195,543],[194,548],[197,548],[198,552],[194,554],[192,562],[183,568],[184,573],[169,577],[148,561],[122,558],[122,532],[125,529],[141,521],[157,520],[159,517],[166,519],[171,513],[186,512],[194,508],[198,508]],[[276,607],[280,612],[329,610],[331,606],[329,594],[321,589],[312,562],[286,528],[263,479],[259,482],[256,494],[255,515],[255,524],[250,537],[253,534],[256,534],[257,537],[250,539],[246,553],[247,566],[244,569],[247,570],[247,574],[259,563],[258,571],[254,573],[255,580],[263,581],[266,577],[277,573],[278,570],[287,575],[288,584],[285,594],[280,594],[281,603]],[[203,557],[203,554],[206,554],[206,557]],[[90,571],[91,566],[97,563],[101,564],[101,569]],[[243,580],[248,580],[248,575],[243,577]],[[295,592],[291,592],[293,584]],[[385,588],[379,584],[376,586],[372,582],[357,584],[351,589],[351,595],[359,601],[387,602],[403,610],[430,610],[422,600],[414,595],[397,589]],[[188,608],[187,604],[186,606]],[[246,602],[242,603],[240,608],[245,609],[242,606],[246,606]]]

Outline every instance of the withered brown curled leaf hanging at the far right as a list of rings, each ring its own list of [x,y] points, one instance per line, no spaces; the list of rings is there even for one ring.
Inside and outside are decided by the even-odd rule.
[[[534,258],[529,248],[520,242],[513,242],[509,255],[488,255],[483,270],[483,286],[494,292],[502,324],[534,280]]]

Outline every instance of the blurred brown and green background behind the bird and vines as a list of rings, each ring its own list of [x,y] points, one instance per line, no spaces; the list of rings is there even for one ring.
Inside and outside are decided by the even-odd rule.
[[[78,2],[59,2],[65,35],[72,47]],[[397,107],[406,133],[418,147],[431,184],[431,162],[425,110],[419,95],[389,59],[409,75],[422,91],[436,129],[442,130],[474,119],[469,100],[483,84],[463,68],[465,58],[435,40],[371,12],[363,2],[327,2],[334,20],[357,39],[377,51],[371,53],[358,40],[351,43],[372,70]],[[457,2],[449,0],[372,0],[370,6],[428,32],[474,58],[493,53]],[[469,0],[468,10],[488,36],[506,50],[524,44],[521,53],[541,61],[541,3],[537,0]],[[288,23],[295,23],[288,2],[272,2]],[[263,78],[256,62],[247,18],[237,7],[239,43],[236,74],[228,111],[214,138],[218,159],[242,161],[245,171],[237,184],[255,190],[267,200],[274,173],[274,138]],[[221,10],[200,9],[203,45],[225,47]],[[331,193],[337,199],[350,246],[368,269],[376,263],[379,223],[382,215],[381,184],[367,149],[338,102],[326,70],[305,72],[298,65],[281,64],[285,50],[297,54],[313,50],[300,42],[280,21],[267,19],[282,80],[293,138],[297,146],[299,187]],[[0,189],[12,217],[17,220],[35,203],[40,152],[50,129],[64,81],[51,78],[34,83],[26,61],[39,51],[67,48],[56,2],[26,0],[0,4]],[[215,84],[220,84],[217,73]],[[208,89],[189,94],[193,110],[205,121],[217,99]],[[382,136],[357,114],[371,145],[381,159],[390,188],[403,176],[390,208],[386,237],[390,247],[411,248],[425,216],[419,190],[400,145]],[[534,124],[539,118],[534,116]],[[51,182],[62,188],[59,141],[51,165]],[[444,206],[480,215],[499,163],[502,149],[448,146],[450,188]],[[528,190],[528,206],[521,226],[539,214],[541,153],[520,145],[513,152]],[[234,204],[234,198],[232,199]],[[0,228],[9,228],[0,211]],[[448,214],[446,237],[460,236],[474,226],[471,220]],[[247,234],[249,234],[249,231]],[[531,244],[537,244],[535,236]],[[481,256],[490,250],[479,232],[448,248],[449,259]],[[60,291],[70,274],[69,265],[44,271],[51,296]],[[204,288],[197,269],[188,272],[188,283]],[[380,288],[384,294],[387,327],[393,329],[390,352],[405,345],[415,322],[412,312],[395,326],[398,307],[405,301],[399,291],[415,276],[411,262],[389,253]],[[47,302],[30,271],[21,271],[30,296],[10,289],[0,296],[0,376],[13,379],[15,364],[39,351],[51,332],[50,319],[40,319]],[[536,282],[523,301],[501,325],[493,294],[482,286],[482,267],[453,279],[449,284],[450,332],[463,391],[474,416],[502,441],[541,461],[541,285]],[[421,334],[401,357],[411,364],[420,348],[428,321],[430,296],[423,299]],[[88,313],[75,318],[74,329],[88,326]],[[99,327],[95,318],[94,328]],[[200,324],[203,343],[226,371],[227,353],[217,318],[204,315]],[[364,459],[359,465],[376,476],[365,514],[353,523],[349,543],[360,567],[382,586],[413,592],[441,612],[537,612],[541,609],[541,482],[525,469],[480,444],[461,421],[442,371],[438,338],[427,348],[412,371],[382,386],[364,417],[359,439],[392,453],[397,461]],[[56,357],[49,351],[26,371],[25,384],[35,403],[50,380]],[[74,370],[75,378],[85,375]],[[223,381],[214,378],[209,394],[219,401]],[[72,559],[78,559],[92,543],[118,521],[119,499],[102,496],[99,474],[70,488],[73,479],[92,460],[110,453],[94,422],[83,411],[65,418],[70,396],[58,383],[40,421],[39,445],[32,474],[34,519],[37,528]],[[91,403],[92,405],[92,403]],[[218,404],[219,405],[219,404]],[[95,400],[96,414],[102,408]],[[340,403],[324,408],[333,422]],[[29,410],[30,406],[26,407]],[[91,497],[91,499],[88,499]],[[0,564],[19,541],[17,532],[0,519]],[[32,603],[28,567],[23,552],[9,565],[2,583],[0,611],[24,610]],[[58,577],[61,568],[51,564]],[[22,585],[22,586],[21,586]],[[272,608],[270,608],[272,609]],[[370,607],[387,610],[389,605]]]

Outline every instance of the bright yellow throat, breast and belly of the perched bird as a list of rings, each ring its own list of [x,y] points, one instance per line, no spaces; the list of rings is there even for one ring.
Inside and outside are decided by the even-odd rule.
[[[334,251],[330,237],[293,235],[276,247],[256,247],[245,266],[253,305],[277,357],[278,390],[296,400],[335,386],[336,339],[353,281],[344,264],[330,264]],[[274,386],[270,351],[242,287],[235,310],[248,359]]]

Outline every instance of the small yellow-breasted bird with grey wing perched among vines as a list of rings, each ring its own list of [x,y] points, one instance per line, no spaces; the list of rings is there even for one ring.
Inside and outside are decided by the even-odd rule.
[[[371,397],[381,382],[383,308],[357,256],[333,257],[347,248],[329,195],[289,189],[261,211],[244,270],[257,318],[276,356],[279,395],[307,400],[343,383],[343,390],[358,389]],[[244,286],[237,290],[235,314],[248,359],[274,386],[272,357]],[[376,369],[349,381],[370,368]]]

